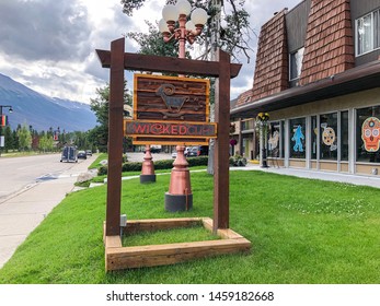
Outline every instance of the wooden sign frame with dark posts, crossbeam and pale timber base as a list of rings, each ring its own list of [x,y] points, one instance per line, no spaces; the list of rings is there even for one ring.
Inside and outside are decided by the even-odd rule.
[[[104,227],[106,271],[171,264],[203,256],[215,256],[238,251],[249,251],[251,243],[229,228],[229,132],[230,132],[230,79],[237,76],[241,64],[231,63],[230,56],[218,50],[217,61],[188,60],[125,52],[125,38],[111,43],[111,51],[96,50],[103,68],[110,72],[110,129],[108,129],[108,180],[106,198],[106,222]],[[123,164],[123,108],[124,70],[171,72],[179,74],[218,78],[216,82],[215,119],[218,137],[215,144],[214,163],[214,220],[206,222],[223,239],[222,244],[211,242],[185,243],[149,247],[123,247],[120,239],[120,198]],[[141,221],[140,221],[141,222]],[[129,225],[134,221],[128,221]],[[128,229],[127,223],[127,229]],[[181,220],[148,220],[143,228],[164,228],[181,226]],[[139,226],[137,228],[140,228]],[[223,233],[223,234],[221,234]],[[219,245],[219,247],[216,247]],[[191,249],[191,251],[189,251]],[[149,251],[147,251],[149,250]],[[207,251],[206,251],[207,250]],[[175,257],[173,261],[172,258]],[[141,258],[148,258],[136,264]]]

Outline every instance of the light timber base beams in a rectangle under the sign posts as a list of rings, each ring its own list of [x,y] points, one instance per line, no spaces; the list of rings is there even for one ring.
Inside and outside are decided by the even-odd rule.
[[[209,217],[128,221],[124,232],[130,234],[141,231],[188,227],[197,224],[203,224],[205,228],[212,232],[212,220]],[[119,236],[106,236],[106,271],[174,264],[209,256],[247,252],[251,249],[251,242],[230,228],[219,229],[217,235],[221,239],[135,247],[122,247]]]

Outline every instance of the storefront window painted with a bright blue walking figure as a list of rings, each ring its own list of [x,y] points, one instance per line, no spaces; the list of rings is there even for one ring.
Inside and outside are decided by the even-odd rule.
[[[306,157],[306,119],[290,119],[289,120],[289,157],[290,158],[304,158]]]

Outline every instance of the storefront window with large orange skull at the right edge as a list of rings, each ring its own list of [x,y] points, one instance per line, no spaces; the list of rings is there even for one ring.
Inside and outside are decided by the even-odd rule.
[[[380,106],[356,111],[356,160],[380,163]]]

